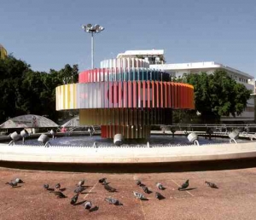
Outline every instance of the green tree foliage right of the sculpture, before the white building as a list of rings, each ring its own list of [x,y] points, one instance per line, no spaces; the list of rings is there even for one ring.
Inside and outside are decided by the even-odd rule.
[[[252,93],[238,84],[223,69],[208,75],[206,72],[189,74],[186,82],[195,90],[195,110],[201,113],[202,123],[219,122],[222,116],[240,115]]]

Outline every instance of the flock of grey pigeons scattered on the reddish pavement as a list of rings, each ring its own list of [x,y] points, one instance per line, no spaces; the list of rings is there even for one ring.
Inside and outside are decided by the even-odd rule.
[[[110,193],[117,192],[116,188],[113,188],[109,185],[109,182],[107,182],[106,177],[100,179],[99,182],[102,183],[102,185],[104,186],[104,188],[108,192],[110,192]],[[12,188],[16,188],[16,187],[20,187],[18,185],[19,183],[25,183],[25,182],[23,182],[20,178],[15,178],[15,180],[12,180],[11,182],[6,182],[5,184],[9,184]],[[205,183],[210,188],[218,188],[217,185],[213,182],[207,182],[206,181]],[[149,188],[145,184],[143,184],[143,182],[141,182],[140,180],[136,180],[136,184],[137,184],[137,186],[143,188],[143,192],[145,194],[151,194],[152,193],[152,191],[150,191]],[[160,182],[156,182],[155,185],[156,185],[157,189],[160,189],[160,190],[165,190],[166,189],[163,186],[163,184],[161,184]],[[189,187],[189,180],[187,180],[186,182],[183,182],[182,186],[177,188],[177,190],[179,190],[179,191],[186,190],[188,187]],[[73,205],[73,206],[79,205],[79,203],[77,203],[77,201],[79,200],[79,194],[82,194],[86,188],[88,188],[88,187],[84,186],[84,180],[79,181],[79,183],[77,184],[76,188],[73,191],[74,195],[70,200],[71,205]],[[61,188],[61,183],[57,183],[55,185],[55,188],[49,188],[49,184],[44,184],[44,189],[49,191],[49,193],[55,194],[55,196],[57,198],[67,198],[67,196],[62,193],[62,191],[64,191],[66,188]],[[138,193],[136,191],[133,191],[133,194],[138,200],[148,200],[144,194]],[[154,196],[158,200],[165,199],[165,196],[160,194],[159,192],[155,192]],[[123,206],[123,204],[119,200],[113,199],[112,197],[105,198],[104,200],[107,201],[109,204],[112,204],[114,206]],[[98,210],[98,206],[92,207],[92,202],[90,200],[85,200],[82,203],[84,204],[84,209],[85,210],[88,210],[88,211]]]

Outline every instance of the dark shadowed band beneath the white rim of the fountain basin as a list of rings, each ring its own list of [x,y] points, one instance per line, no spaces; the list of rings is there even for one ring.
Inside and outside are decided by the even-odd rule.
[[[154,173],[181,171],[221,171],[256,167],[256,159],[228,159],[158,164],[56,164],[1,161],[1,167],[32,171],[67,171],[93,173]]]

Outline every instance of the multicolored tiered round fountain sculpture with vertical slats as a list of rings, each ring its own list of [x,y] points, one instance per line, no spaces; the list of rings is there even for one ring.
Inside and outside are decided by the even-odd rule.
[[[137,58],[101,62],[78,84],[56,88],[56,110],[79,109],[79,122],[101,125],[102,137],[148,138],[150,125],[172,124],[172,109],[193,109],[194,88]]]

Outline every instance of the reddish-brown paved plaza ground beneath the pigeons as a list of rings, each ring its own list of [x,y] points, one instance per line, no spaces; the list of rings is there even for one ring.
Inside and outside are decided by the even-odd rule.
[[[255,219],[256,168],[224,171],[190,171],[162,173],[82,173],[64,171],[22,171],[0,169],[1,219]],[[11,188],[5,182],[20,177],[25,183]],[[118,192],[108,193],[98,179],[107,177],[110,186]],[[148,200],[137,200],[132,191],[143,193],[135,179],[140,179],[150,190]],[[78,206],[70,199],[79,180],[89,186],[79,195]],[[189,189],[177,188],[189,179]],[[207,187],[205,181],[215,182],[218,189]],[[66,188],[66,199],[57,199],[43,188],[44,183],[54,187],[57,182]],[[166,199],[156,200],[155,182],[166,190],[160,191]],[[104,198],[111,196],[124,206],[109,205]],[[96,211],[84,210],[83,201],[91,200]]]

